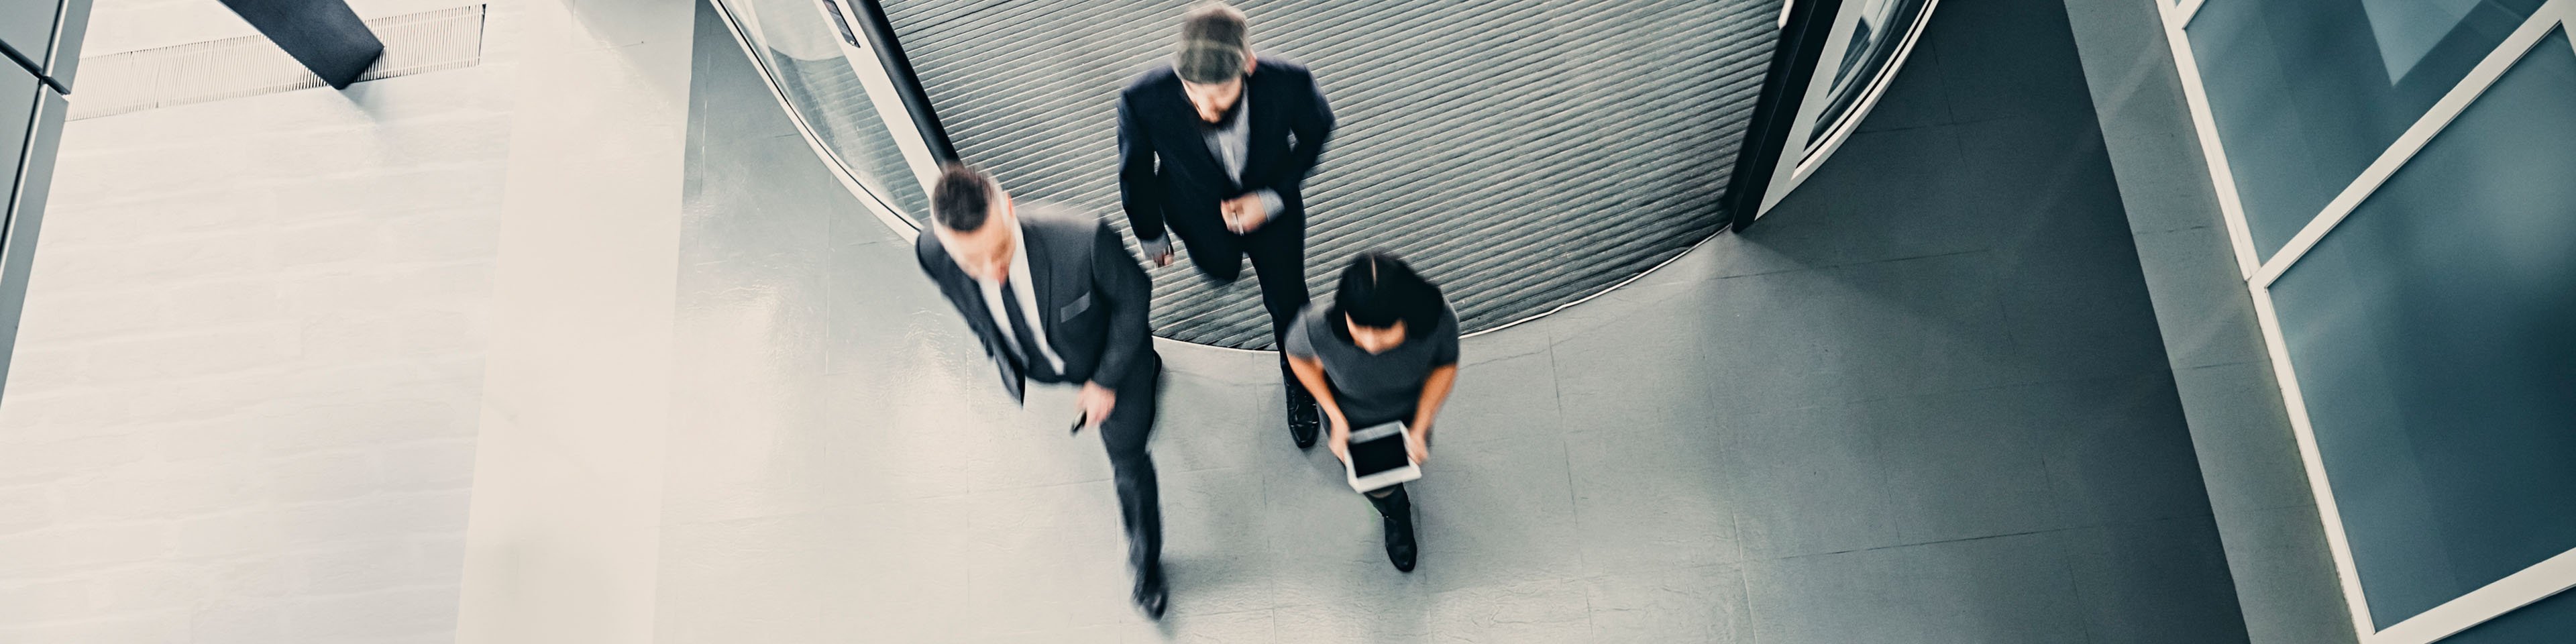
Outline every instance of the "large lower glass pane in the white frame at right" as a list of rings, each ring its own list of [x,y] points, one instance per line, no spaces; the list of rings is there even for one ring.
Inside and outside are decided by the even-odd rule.
[[[2380,626],[2576,549],[2571,178],[2555,33],[2272,283]]]

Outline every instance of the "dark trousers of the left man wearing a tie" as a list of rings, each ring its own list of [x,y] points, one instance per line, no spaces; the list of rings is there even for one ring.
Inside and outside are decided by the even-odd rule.
[[[1154,569],[1162,562],[1162,489],[1154,482],[1154,456],[1146,453],[1146,438],[1154,433],[1154,412],[1162,407],[1162,355],[1144,361],[1144,371],[1128,376],[1126,386],[1118,389],[1118,407],[1110,407],[1110,417],[1100,422],[1100,443],[1110,453],[1110,477],[1118,482],[1118,523],[1128,533],[1128,564],[1136,574]],[[1082,384],[1087,379],[1041,379],[1056,384]],[[1141,386],[1139,386],[1141,381]]]

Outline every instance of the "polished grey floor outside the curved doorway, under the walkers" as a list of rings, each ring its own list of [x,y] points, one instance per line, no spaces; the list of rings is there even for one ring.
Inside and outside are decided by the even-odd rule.
[[[1273,358],[1167,345],[1164,623],[1072,394],[698,41],[662,641],[2244,641],[2053,3],[1942,3],[1752,234],[1468,337],[1412,574]]]

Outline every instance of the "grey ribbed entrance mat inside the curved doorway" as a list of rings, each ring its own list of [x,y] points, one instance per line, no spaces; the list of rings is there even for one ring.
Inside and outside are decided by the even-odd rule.
[[[1118,88],[1167,59],[1177,0],[884,0],[958,155],[1020,198],[1118,216]],[[1721,193],[1780,0],[1247,0],[1265,57],[1306,62],[1340,129],[1306,183],[1309,281],[1409,258],[1466,330],[1669,260]],[[1133,242],[1133,240],[1131,240]],[[1249,276],[1154,270],[1162,335],[1267,348]]]

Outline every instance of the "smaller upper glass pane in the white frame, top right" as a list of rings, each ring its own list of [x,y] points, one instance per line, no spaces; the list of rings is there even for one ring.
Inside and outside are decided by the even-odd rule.
[[[2187,26],[2272,258],[2543,0],[2210,0]]]

